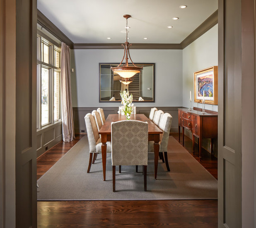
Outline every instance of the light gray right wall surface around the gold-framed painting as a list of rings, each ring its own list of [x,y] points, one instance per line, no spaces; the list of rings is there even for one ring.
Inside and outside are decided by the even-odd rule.
[[[202,108],[202,104],[194,100],[193,73],[210,66],[218,65],[218,25],[204,33],[183,50],[183,106],[190,107],[189,91],[192,106]],[[217,105],[205,104],[205,109],[218,111]]]

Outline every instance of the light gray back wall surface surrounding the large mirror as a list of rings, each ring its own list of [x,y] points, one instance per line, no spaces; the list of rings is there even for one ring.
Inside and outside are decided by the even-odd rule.
[[[130,50],[133,62],[155,63],[155,103],[136,106],[182,106],[182,50]],[[70,50],[73,107],[117,107],[99,103],[99,63],[120,62],[123,50]],[[152,104],[152,105],[151,105]]]

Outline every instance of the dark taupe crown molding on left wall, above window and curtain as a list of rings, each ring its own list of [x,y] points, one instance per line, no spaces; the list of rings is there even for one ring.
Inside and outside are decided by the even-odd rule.
[[[60,29],[58,29],[44,14],[37,9],[37,22],[44,29],[56,36],[60,41],[66,43],[70,48],[74,47],[74,43]]]

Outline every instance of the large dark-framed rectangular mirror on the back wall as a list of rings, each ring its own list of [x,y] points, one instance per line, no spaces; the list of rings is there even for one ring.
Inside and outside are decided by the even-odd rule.
[[[120,82],[124,78],[111,70],[118,63],[99,63],[99,102],[121,102],[120,91],[123,90],[133,95],[133,102],[155,102],[155,63],[135,65],[143,69],[126,85]]]

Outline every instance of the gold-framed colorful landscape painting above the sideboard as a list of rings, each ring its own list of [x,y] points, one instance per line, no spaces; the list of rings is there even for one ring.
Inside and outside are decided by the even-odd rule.
[[[218,104],[218,66],[211,66],[194,73],[194,102]]]

